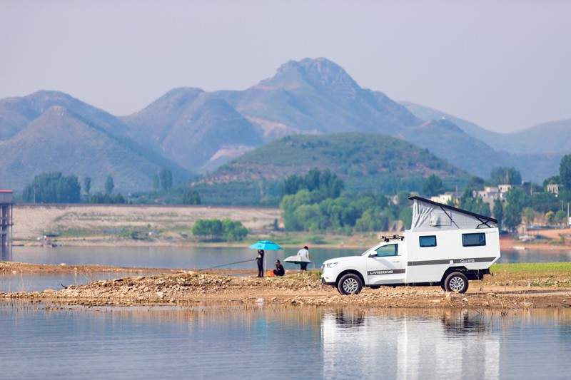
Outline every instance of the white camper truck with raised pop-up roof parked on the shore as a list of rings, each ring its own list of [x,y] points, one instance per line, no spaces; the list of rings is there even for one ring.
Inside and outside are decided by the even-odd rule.
[[[410,200],[413,223],[404,236],[383,237],[360,256],[325,261],[321,281],[341,294],[381,285],[440,285],[464,293],[469,279],[490,274],[500,258],[497,220],[421,197]]]

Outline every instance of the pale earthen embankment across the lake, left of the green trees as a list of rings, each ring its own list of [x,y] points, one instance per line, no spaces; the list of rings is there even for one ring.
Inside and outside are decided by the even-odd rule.
[[[256,232],[279,219],[277,207],[156,205],[14,205],[12,236],[16,244],[39,244],[51,232],[65,233],[65,245],[116,245],[117,230],[159,232],[152,239],[121,240],[121,245],[173,245],[184,242],[198,219],[239,220]]]

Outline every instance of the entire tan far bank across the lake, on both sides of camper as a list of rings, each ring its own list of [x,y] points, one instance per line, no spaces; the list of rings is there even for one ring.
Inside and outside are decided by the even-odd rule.
[[[161,206],[161,205],[14,205],[14,245],[111,246],[243,246],[243,242],[204,243],[191,233],[198,219],[238,220],[248,228],[249,240],[270,238],[282,247],[366,248],[384,232],[327,235],[274,230],[280,225],[278,207]],[[39,240],[52,235],[49,240]],[[500,239],[502,250],[571,250],[571,229],[536,230],[540,239],[522,241],[512,235]]]

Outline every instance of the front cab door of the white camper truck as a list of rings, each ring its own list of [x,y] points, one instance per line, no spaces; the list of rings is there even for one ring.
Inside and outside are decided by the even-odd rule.
[[[367,279],[366,283],[371,284],[400,284],[405,282],[406,260],[404,252],[399,252],[399,248],[405,249],[405,245],[399,243],[381,245],[367,257]]]

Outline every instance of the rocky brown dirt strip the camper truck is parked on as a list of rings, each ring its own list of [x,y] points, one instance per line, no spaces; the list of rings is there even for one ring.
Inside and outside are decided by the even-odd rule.
[[[152,276],[137,272],[153,272]],[[569,279],[542,287],[525,281],[495,282],[492,276],[470,282],[465,294],[445,292],[440,287],[381,287],[363,289],[360,294],[340,295],[323,285],[313,272],[288,271],[284,277],[253,277],[249,270],[176,271],[173,269],[133,269],[93,265],[31,265],[0,262],[0,274],[133,272],[132,277],[69,285],[59,291],[0,293],[0,299],[25,299],[51,302],[54,307],[84,306],[160,306],[213,304],[287,304],[312,306],[352,306],[363,308],[492,309],[510,312],[521,309],[571,307]],[[96,278],[96,276],[94,276]],[[541,281],[540,281],[541,282]]]

